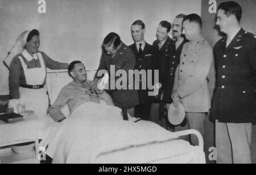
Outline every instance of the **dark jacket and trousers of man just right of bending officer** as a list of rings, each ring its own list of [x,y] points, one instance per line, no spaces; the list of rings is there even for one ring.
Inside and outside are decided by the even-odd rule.
[[[130,45],[130,48],[133,50],[136,58],[136,65],[135,70],[145,70],[146,72],[148,70],[152,70],[152,76],[148,76],[146,74],[146,77],[144,78],[151,78],[152,85],[154,85],[154,70],[158,70],[158,62],[156,60],[156,49],[150,45],[145,43],[144,49],[142,53],[139,53],[136,44]],[[149,96],[148,92],[151,90],[148,89],[142,89],[142,73],[139,74],[139,104],[134,107],[134,114],[135,117],[142,118],[144,120],[150,121],[150,112],[151,112],[151,104],[154,102],[155,97]],[[147,83],[147,81],[145,81]]]

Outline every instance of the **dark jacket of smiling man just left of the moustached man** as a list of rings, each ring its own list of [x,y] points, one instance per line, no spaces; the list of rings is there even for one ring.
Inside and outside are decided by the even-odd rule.
[[[167,61],[173,59],[175,54],[175,42],[170,37],[167,37],[161,49],[158,46],[159,41],[153,42],[153,46],[157,50],[157,59],[159,63],[159,82],[164,84],[164,72],[166,71]]]

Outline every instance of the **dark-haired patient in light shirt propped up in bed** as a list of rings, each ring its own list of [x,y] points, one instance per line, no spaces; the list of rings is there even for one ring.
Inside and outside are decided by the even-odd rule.
[[[65,105],[68,105],[70,113],[73,113],[78,106],[87,102],[114,105],[112,98],[105,91],[92,91],[90,81],[87,80],[85,66],[80,61],[73,61],[69,65],[68,74],[73,78],[73,81],[61,89],[57,99],[48,110],[49,116],[54,121],[61,122],[66,118],[61,112]]]

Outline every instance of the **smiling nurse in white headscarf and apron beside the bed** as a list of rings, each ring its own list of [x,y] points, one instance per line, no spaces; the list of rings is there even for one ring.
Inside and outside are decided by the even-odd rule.
[[[16,110],[17,105],[25,104],[26,110],[34,110],[36,116],[45,118],[48,109],[46,68],[67,69],[68,63],[53,61],[44,52],[39,52],[39,31],[36,29],[26,31],[23,41],[22,53],[10,63],[9,106]]]

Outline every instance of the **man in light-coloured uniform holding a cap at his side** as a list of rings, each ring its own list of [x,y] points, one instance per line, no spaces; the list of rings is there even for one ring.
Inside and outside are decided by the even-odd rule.
[[[180,64],[176,69],[172,100],[175,107],[183,104],[190,129],[204,136],[204,118],[210,109],[207,75],[213,59],[212,48],[201,36],[199,15],[190,14],[183,19],[183,34],[189,41],[184,44]],[[198,144],[196,136],[191,143]]]

